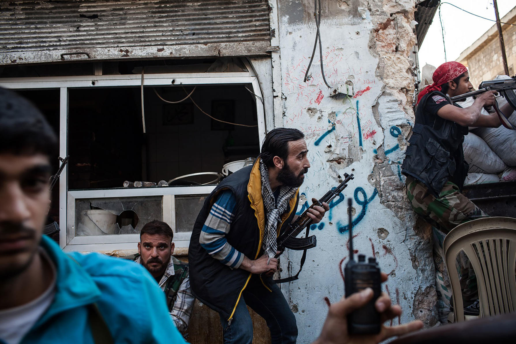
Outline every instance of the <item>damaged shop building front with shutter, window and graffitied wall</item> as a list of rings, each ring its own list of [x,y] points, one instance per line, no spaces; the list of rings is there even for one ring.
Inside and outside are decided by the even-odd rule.
[[[313,0],[6,5],[0,85],[42,108],[60,133],[60,155],[70,155],[51,211],[61,248],[126,254],[136,249],[143,223],[159,219],[171,225],[184,255],[214,176],[165,187],[123,182],[219,172],[224,163],[256,156],[268,130],[295,127],[305,134],[312,165],[299,212],[344,173],[354,174],[311,228],[317,247],[300,279],[281,286],[299,342],[319,333],[325,300],[344,293],[348,197],[354,248],[377,258],[390,275],[383,290],[404,309],[394,323],[416,318],[433,326],[431,230],[406,200],[400,165],[414,120],[417,47],[438,3],[321,0],[322,52],[317,43],[307,81],[317,32]],[[281,277],[298,270],[300,257],[281,256]],[[192,343],[220,338],[218,316],[206,308],[196,305]],[[255,331],[256,342],[267,342],[263,323]]]

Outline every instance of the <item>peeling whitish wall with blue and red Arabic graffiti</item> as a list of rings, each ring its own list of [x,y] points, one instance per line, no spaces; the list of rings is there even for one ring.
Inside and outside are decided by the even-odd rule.
[[[298,281],[282,285],[299,326],[299,342],[319,333],[327,302],[344,293],[341,269],[348,257],[345,198],[353,198],[354,248],[378,259],[389,273],[383,290],[404,314],[394,321],[436,323],[436,291],[427,225],[416,224],[400,174],[413,123],[414,1],[324,1],[320,34],[322,64],[330,86],[348,86],[349,96],[331,97],[321,77],[318,48],[310,79],[303,82],[314,45],[313,1],[279,1],[282,112],[275,122],[305,134],[310,168],[301,186],[299,211],[353,173],[344,197],[330,204],[314,226],[317,248],[308,252]],[[414,25],[414,23],[412,23]],[[273,73],[274,74],[274,73]],[[308,202],[308,203],[305,203]],[[302,207],[302,208],[301,208]],[[295,273],[301,252],[281,259],[282,276]]]

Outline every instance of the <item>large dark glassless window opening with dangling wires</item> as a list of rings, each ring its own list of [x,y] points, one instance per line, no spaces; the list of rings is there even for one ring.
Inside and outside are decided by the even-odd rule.
[[[255,157],[260,151],[256,104],[246,86],[197,86],[191,99],[176,104],[159,98],[180,101],[193,88],[146,88],[146,133],[139,88],[70,90],[69,190],[118,188],[125,181],[158,184],[221,172],[224,163]],[[192,176],[174,184],[213,179]]]

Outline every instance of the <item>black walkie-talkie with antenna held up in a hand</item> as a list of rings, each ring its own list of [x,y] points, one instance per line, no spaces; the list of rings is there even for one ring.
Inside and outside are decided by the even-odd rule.
[[[351,233],[351,199],[348,199],[349,212],[349,261],[344,268],[344,286],[346,297],[367,287],[373,289],[374,296],[365,306],[348,315],[348,332],[350,334],[377,334],[380,332],[380,314],[375,302],[380,297],[380,268],[374,257],[365,261],[365,255],[358,255],[358,262],[353,259],[353,234]]]

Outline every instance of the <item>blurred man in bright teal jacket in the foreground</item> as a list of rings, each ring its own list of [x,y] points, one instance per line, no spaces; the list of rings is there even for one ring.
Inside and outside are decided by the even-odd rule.
[[[146,269],[42,235],[56,146],[39,110],[0,89],[0,343],[184,343]]]

